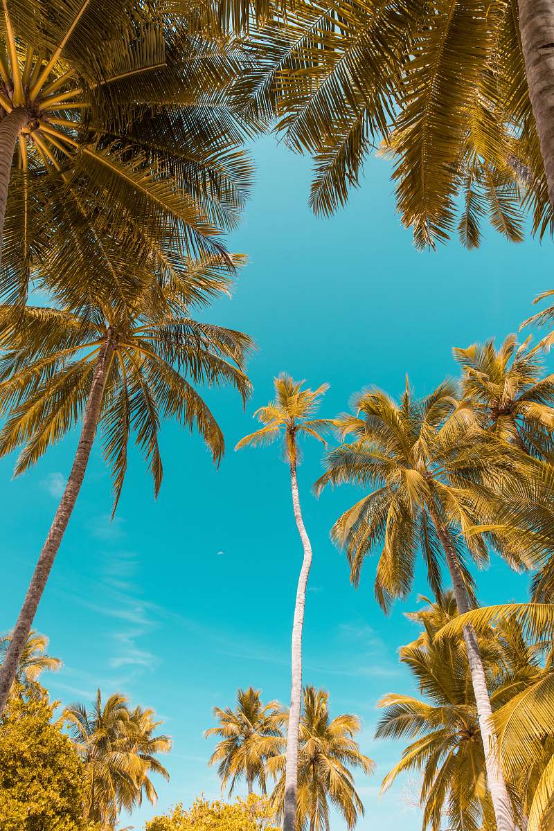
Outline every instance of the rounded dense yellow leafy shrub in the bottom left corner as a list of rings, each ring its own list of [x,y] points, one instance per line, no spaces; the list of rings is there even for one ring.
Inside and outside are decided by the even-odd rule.
[[[2,831],[84,831],[82,765],[47,701],[9,701],[0,722]]]

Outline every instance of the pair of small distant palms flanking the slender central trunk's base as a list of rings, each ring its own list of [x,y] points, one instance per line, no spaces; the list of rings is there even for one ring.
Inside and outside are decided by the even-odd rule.
[[[355,789],[353,770],[370,773],[373,762],[360,751],[355,735],[360,721],[343,713],[331,718],[326,691],[306,686],[302,696],[297,741],[297,827],[310,831],[329,831],[330,806],[338,809],[349,829],[354,828],[363,805]],[[260,691],[249,687],[238,690],[234,710],[214,707],[218,726],[206,737],[218,736],[209,760],[218,763],[222,789],[233,789],[245,779],[248,794],[255,784],[267,794],[267,779],[274,784],[270,806],[277,822],[282,822],[286,807],[287,742],[282,728],[289,713],[278,701],[263,704]],[[290,730],[289,730],[290,733]]]

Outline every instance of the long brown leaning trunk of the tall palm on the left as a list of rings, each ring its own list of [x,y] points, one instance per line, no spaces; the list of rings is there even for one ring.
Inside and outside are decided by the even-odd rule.
[[[110,341],[106,341],[98,355],[92,376],[91,391],[86,402],[81,436],[79,438],[79,444],[77,445],[71,474],[69,479],[67,479],[66,489],[56,510],[56,515],[48,532],[47,540],[42,547],[41,556],[38,558],[37,567],[32,575],[31,583],[29,583],[27,595],[23,601],[21,612],[19,612],[17,623],[12,632],[9,647],[7,647],[5,661],[0,666],[0,715],[2,715],[3,709],[6,706],[7,696],[12,687],[13,679],[16,676],[17,665],[25,643],[27,642],[27,637],[31,631],[38,603],[47,584],[54,558],[56,557],[58,548],[60,548],[61,539],[66,531],[69,518],[76,504],[77,496],[81,490],[86,465],[91,455],[96,425],[101,414],[105,381],[112,355],[113,346]]]

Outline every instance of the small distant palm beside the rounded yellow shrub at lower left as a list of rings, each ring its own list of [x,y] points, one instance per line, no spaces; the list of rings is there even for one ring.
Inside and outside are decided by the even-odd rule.
[[[150,774],[169,779],[167,770],[155,754],[171,748],[168,736],[154,736],[161,722],[151,710],[130,711],[127,698],[119,693],[102,703],[100,690],[91,712],[73,704],[64,716],[72,740],[83,761],[86,789],[86,819],[113,826],[120,809],[132,810],[140,804],[143,791],[151,804],[156,791]]]

